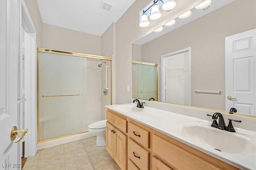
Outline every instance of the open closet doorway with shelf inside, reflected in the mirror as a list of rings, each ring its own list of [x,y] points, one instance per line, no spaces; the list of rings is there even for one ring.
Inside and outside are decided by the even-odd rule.
[[[162,56],[162,101],[190,106],[190,48]]]

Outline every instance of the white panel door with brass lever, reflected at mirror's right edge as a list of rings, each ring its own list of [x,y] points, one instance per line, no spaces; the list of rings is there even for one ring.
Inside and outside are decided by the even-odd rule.
[[[225,38],[226,111],[256,115],[256,29]]]

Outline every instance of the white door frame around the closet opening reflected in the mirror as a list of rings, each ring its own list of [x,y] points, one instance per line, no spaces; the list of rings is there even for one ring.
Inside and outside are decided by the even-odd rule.
[[[191,106],[191,47],[161,55],[161,101],[166,101],[166,59],[172,55],[188,51],[188,106]]]

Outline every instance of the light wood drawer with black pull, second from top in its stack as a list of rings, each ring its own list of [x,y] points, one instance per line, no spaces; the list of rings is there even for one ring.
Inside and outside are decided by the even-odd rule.
[[[135,143],[132,139],[128,139],[128,158],[134,162],[138,168],[142,170],[149,169],[149,156],[150,152],[140,145]]]

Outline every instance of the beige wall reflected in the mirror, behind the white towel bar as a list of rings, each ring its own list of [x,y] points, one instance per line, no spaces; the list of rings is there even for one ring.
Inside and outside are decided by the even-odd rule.
[[[161,62],[161,55],[191,47],[192,106],[225,110],[225,37],[256,28],[255,7],[254,0],[235,0],[142,45],[142,61]],[[196,94],[195,89],[223,92]]]

